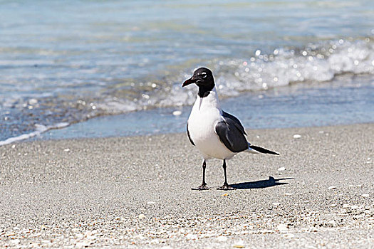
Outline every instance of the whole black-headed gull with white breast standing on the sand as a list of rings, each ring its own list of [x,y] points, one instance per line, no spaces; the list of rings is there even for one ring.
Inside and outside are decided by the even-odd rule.
[[[186,80],[182,87],[195,83],[199,87],[197,100],[194,102],[191,114],[187,121],[187,135],[189,142],[196,146],[203,157],[202,185],[194,190],[209,189],[205,182],[205,168],[208,159],[222,159],[224,164],[224,185],[220,190],[232,190],[234,187],[227,184],[226,160],[231,159],[239,152],[275,154],[269,149],[251,145],[246,141],[246,132],[243,125],[233,115],[224,112],[217,96],[212,71],[208,68],[198,68],[194,75]]]

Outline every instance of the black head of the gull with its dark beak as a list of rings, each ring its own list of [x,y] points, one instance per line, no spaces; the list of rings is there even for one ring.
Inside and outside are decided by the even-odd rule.
[[[194,75],[186,80],[182,87],[195,83],[199,87],[199,96],[206,97],[214,88],[213,73],[208,68],[197,68],[194,70]]]

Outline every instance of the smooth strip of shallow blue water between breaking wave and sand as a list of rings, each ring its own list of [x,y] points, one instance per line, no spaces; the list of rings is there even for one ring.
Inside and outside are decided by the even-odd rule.
[[[296,84],[258,92],[243,92],[222,99],[222,107],[241,117],[244,127],[271,129],[314,127],[374,122],[373,85],[369,75],[338,77],[330,83]],[[48,140],[80,137],[123,137],[185,132],[191,106],[160,107],[119,115],[94,117],[84,122],[36,124],[29,133],[7,138],[0,146],[15,140]],[[56,129],[65,127],[63,129]],[[6,132],[3,131],[4,133]]]

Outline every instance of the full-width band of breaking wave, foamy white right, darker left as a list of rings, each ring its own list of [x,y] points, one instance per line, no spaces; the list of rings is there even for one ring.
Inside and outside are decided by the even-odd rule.
[[[0,120],[6,122],[0,124],[0,128],[5,131],[0,136],[0,140],[3,140],[0,145],[28,139],[48,129],[58,129],[100,115],[192,105],[197,89],[182,89],[181,85],[199,66],[207,66],[214,71],[221,97],[292,83],[322,83],[348,73],[374,74],[374,41],[371,37],[339,39],[308,44],[303,48],[276,48],[273,53],[267,54],[258,49],[251,56],[217,58],[205,63],[177,65],[167,73],[147,75],[144,80],[123,79],[118,84],[105,85],[103,90],[95,94],[1,100]],[[36,125],[39,126],[36,128]]]

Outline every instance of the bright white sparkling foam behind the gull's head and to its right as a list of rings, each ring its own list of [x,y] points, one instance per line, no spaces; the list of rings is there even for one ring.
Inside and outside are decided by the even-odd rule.
[[[267,90],[291,83],[325,82],[336,75],[352,73],[374,73],[374,43],[370,38],[363,41],[330,41],[324,44],[310,44],[306,48],[279,48],[273,54],[262,55],[256,51],[253,57],[233,60],[218,60],[212,65],[219,94],[232,97],[241,92]],[[181,73],[190,75],[185,72]],[[192,105],[195,88],[181,88],[185,78],[180,77],[170,92],[164,95],[147,95],[147,101],[138,105],[160,107]]]

